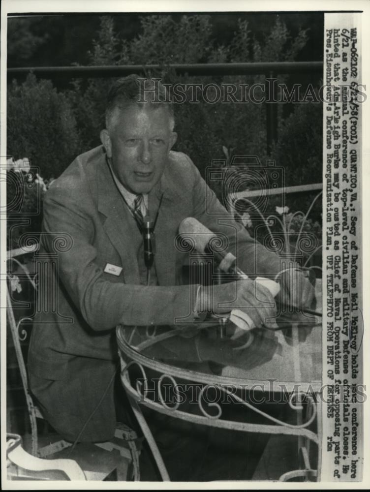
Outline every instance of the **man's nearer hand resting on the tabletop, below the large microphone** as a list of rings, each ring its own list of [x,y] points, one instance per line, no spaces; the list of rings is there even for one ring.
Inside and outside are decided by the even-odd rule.
[[[251,280],[237,280],[212,287],[202,287],[199,306],[215,314],[229,313],[233,309],[244,310],[259,328],[277,328],[275,299],[269,289]]]

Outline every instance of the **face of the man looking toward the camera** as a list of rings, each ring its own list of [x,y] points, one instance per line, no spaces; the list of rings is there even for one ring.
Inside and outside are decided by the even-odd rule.
[[[132,193],[149,193],[162,176],[177,138],[168,111],[146,103],[115,111],[113,128],[100,134],[114,173]]]

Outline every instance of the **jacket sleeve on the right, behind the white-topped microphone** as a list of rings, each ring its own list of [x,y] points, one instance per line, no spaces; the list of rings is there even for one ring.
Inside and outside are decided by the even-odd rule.
[[[189,161],[194,176],[194,217],[211,231],[227,238],[227,251],[236,256],[238,267],[248,276],[274,277],[280,271],[278,255],[258,243],[248,234],[242,224],[234,220],[230,212],[221,205],[214,191],[200,176],[195,165],[190,159]]]

